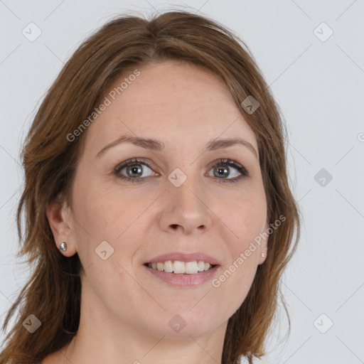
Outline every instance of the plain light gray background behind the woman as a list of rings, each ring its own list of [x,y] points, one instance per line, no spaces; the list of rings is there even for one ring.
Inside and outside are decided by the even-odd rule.
[[[0,0],[1,323],[28,279],[15,259],[18,159],[40,100],[77,45],[110,17],[176,6],[211,16],[247,43],[289,127],[291,186],[304,215],[300,247],[282,282],[291,336],[279,341],[287,329],[281,307],[269,355],[257,362],[364,363],[363,0]],[[33,42],[21,33],[31,22],[42,31]],[[314,33],[322,22],[333,30],[324,42]],[[314,179],[321,168],[333,176],[326,186]],[[333,326],[321,333],[329,320]]]

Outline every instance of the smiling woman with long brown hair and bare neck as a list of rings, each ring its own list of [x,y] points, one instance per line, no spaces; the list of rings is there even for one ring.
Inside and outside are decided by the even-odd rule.
[[[0,363],[262,357],[299,240],[285,137],[220,24],[171,11],[102,26],[23,146],[20,254],[36,267]]]

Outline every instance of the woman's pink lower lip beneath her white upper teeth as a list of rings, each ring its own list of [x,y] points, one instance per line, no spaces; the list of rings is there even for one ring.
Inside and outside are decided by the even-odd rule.
[[[215,265],[213,268],[196,274],[175,274],[149,268],[145,265],[143,267],[147,269],[150,274],[153,274],[154,277],[161,279],[173,287],[193,287],[213,279],[213,276],[220,266]]]

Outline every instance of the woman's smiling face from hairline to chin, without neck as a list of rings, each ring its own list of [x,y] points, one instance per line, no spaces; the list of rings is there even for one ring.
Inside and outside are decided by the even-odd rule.
[[[66,239],[85,269],[83,299],[103,319],[203,335],[225,328],[267,252],[267,241],[251,245],[268,226],[257,140],[216,75],[176,61],[139,72],[115,82],[85,131]],[[196,273],[194,261],[216,267]],[[173,268],[195,273],[159,271]]]

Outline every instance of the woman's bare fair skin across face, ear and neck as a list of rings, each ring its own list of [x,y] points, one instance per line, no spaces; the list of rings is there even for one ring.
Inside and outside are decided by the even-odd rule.
[[[203,152],[208,141],[234,137],[258,151],[254,132],[218,76],[171,60],[139,70],[86,130],[73,210],[65,203],[47,206],[55,244],[68,245],[60,254],[77,252],[85,271],[77,335],[43,364],[221,363],[228,319],[245,300],[264,262],[261,253],[267,255],[267,240],[262,240],[218,288],[210,281],[170,287],[142,267],[169,252],[204,252],[219,259],[218,277],[269,225],[257,156],[238,144]],[[97,158],[100,149],[124,134],[159,139],[166,148],[150,151],[122,143]],[[141,165],[140,183],[111,173],[132,158],[151,167]],[[245,166],[250,176],[224,183],[241,175],[226,164],[220,167],[228,168],[228,176],[214,173],[211,164],[225,158]],[[168,180],[175,168],[187,176],[178,188]],[[126,168],[119,174],[132,178]],[[106,260],[95,253],[102,241],[114,249]],[[168,325],[176,314],[186,321],[179,333]]]

